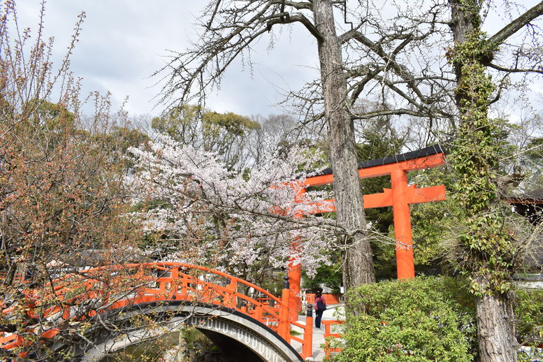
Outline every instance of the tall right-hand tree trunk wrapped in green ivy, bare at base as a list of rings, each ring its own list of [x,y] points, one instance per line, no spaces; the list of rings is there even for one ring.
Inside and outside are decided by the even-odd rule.
[[[482,220],[468,223],[471,229],[467,231],[468,241],[463,245],[468,250],[466,255],[469,255],[463,262],[470,265],[472,281],[478,289],[476,305],[480,361],[516,362],[518,344],[514,333],[512,294],[495,290],[490,280],[495,275],[502,275],[503,268],[490,266],[488,263],[491,258],[488,254],[500,253],[496,247],[501,244],[496,240],[505,240],[506,236],[500,235],[501,231],[491,232],[496,227],[495,222],[491,217],[482,216],[494,215],[492,209],[495,208],[495,200],[498,198],[493,187],[493,168],[498,163],[495,159],[496,150],[493,148],[496,146],[488,142],[495,128],[492,120],[488,119],[488,102],[491,96],[488,89],[492,89],[492,82],[485,72],[484,51],[477,52],[473,48],[465,47],[468,42],[475,43],[472,37],[480,36],[477,33],[481,25],[479,13],[482,3],[479,0],[449,0],[449,3],[452,15],[450,26],[455,41],[453,52],[457,52],[454,58],[458,85],[456,104],[461,116],[457,147],[464,148],[458,151],[455,161],[463,165],[457,169],[464,170],[458,183],[463,184],[465,190],[470,189],[470,194],[462,194],[459,201],[465,208],[468,219]],[[485,200],[488,203],[484,203]],[[483,232],[484,229],[488,229],[488,232]],[[469,240],[470,236],[472,240]],[[470,243],[477,244],[477,247]],[[502,244],[506,245],[505,242]],[[477,249],[486,252],[477,253]],[[506,250],[503,254],[507,252],[511,251]],[[507,283],[507,280],[503,282]]]

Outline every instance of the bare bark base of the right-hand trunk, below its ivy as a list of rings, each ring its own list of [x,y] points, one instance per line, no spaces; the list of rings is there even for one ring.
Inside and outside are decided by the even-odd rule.
[[[510,294],[483,295],[475,298],[477,341],[481,362],[514,362],[517,342]]]

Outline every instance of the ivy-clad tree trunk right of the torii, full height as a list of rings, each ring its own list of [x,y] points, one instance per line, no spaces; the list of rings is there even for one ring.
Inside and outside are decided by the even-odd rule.
[[[480,30],[479,0],[449,0],[456,71],[456,103],[461,125],[453,152],[456,194],[466,214],[458,255],[472,282],[477,305],[480,361],[518,361],[514,335],[511,275],[514,242],[500,212],[495,183],[498,166],[497,126],[488,117],[494,91],[486,62],[494,49]]]

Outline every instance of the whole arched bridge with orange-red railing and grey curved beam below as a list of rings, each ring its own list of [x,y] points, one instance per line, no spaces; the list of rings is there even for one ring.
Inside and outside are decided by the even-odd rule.
[[[288,284],[278,298],[238,277],[187,263],[83,270],[49,289],[25,290],[27,326],[1,333],[0,349],[15,358],[59,354],[97,361],[192,325],[242,360],[303,361],[312,355],[312,316],[309,310],[305,326],[289,320]],[[20,315],[17,310],[21,305],[2,311],[5,324]],[[303,335],[291,335],[292,326]]]

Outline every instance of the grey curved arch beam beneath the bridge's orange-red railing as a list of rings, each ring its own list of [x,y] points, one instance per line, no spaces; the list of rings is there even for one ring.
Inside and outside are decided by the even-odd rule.
[[[142,317],[149,317],[153,324],[136,326],[134,320],[142,321]],[[149,303],[124,308],[115,319],[124,332],[115,333],[112,328],[99,325],[89,329],[86,336],[93,343],[81,340],[71,351],[79,361],[100,361],[130,345],[155,340],[187,326],[208,336],[233,361],[303,361],[291,345],[266,325],[227,308],[176,301]],[[127,330],[130,332],[126,333]],[[62,342],[51,347],[65,349]]]

